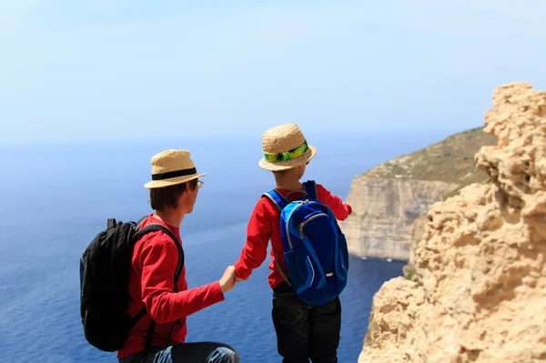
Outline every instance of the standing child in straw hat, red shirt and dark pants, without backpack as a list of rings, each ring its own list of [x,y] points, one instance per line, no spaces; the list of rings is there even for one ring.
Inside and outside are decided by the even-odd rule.
[[[299,179],[317,149],[308,146],[298,126],[293,124],[268,129],[262,136],[264,157],[258,165],[273,172],[277,191],[293,200],[302,197],[303,186]],[[295,192],[293,192],[295,191]],[[299,191],[299,192],[298,192]],[[293,192],[293,193],[291,193]],[[289,193],[289,196],[288,196]],[[349,216],[352,209],[339,197],[317,184],[319,201],[327,205],[337,219]],[[278,354],[284,363],[337,362],[341,306],[339,298],[327,305],[313,307],[301,303],[289,284],[288,271],[280,235],[280,211],[267,197],[258,200],[248,222],[247,243],[238,262],[234,264],[236,281],[248,279],[252,270],[267,257],[271,240],[271,263],[268,281],[273,289],[272,318],[277,333]]]

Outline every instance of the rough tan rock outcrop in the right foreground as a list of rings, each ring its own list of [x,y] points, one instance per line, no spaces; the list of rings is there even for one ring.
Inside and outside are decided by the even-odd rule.
[[[359,363],[546,361],[546,92],[498,87],[485,124],[493,183],[431,207],[414,281],[379,289]]]

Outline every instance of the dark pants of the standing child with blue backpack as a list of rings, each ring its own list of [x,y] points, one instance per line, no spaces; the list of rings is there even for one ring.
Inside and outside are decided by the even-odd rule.
[[[283,285],[285,284],[285,285]],[[339,298],[324,307],[299,302],[286,283],[273,292],[273,325],[283,363],[338,362],[341,304]]]

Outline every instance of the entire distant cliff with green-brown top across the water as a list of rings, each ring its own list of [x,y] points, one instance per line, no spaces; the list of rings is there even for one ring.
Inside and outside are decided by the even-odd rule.
[[[420,238],[416,218],[487,175],[474,167],[474,154],[494,137],[481,128],[450,136],[407,156],[399,156],[356,177],[347,202],[354,213],[339,225],[349,252],[359,257],[407,260],[411,241]]]

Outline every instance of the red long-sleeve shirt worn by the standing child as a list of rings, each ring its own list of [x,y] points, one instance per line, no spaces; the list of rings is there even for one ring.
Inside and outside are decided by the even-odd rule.
[[[288,189],[277,189],[283,196],[287,196]],[[327,205],[336,218],[344,220],[352,213],[352,208],[343,203],[340,197],[332,195],[328,189],[317,184],[319,201]],[[296,195],[296,196],[294,196]],[[288,199],[301,197],[298,193],[292,193]],[[284,262],[284,247],[280,237],[280,211],[267,197],[261,197],[254,207],[247,227],[247,242],[241,252],[241,256],[235,263],[235,272],[239,278],[248,278],[252,270],[261,266],[268,254],[268,243],[271,240],[271,262],[268,276],[269,286],[275,288],[284,279],[278,273],[275,260],[277,259],[283,273],[288,277]]]

